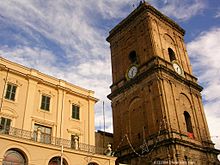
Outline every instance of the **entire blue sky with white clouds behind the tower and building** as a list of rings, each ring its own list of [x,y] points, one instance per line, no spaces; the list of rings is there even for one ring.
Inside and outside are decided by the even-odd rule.
[[[148,0],[185,30],[204,109],[220,148],[220,0]],[[2,0],[0,54],[27,67],[95,91],[96,128],[112,131],[108,32],[139,0]]]

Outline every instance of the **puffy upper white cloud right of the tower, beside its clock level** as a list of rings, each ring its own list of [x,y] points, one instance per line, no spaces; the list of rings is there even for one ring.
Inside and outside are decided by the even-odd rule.
[[[200,36],[188,44],[190,57],[192,60],[196,60],[196,63],[194,63],[195,69],[203,71],[199,75],[202,82],[219,83],[219,35],[220,28],[213,28],[208,32],[201,33]]]

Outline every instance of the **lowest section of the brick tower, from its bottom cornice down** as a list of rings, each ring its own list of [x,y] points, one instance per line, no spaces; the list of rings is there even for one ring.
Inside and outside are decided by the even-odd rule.
[[[210,146],[208,146],[210,145]],[[117,165],[220,165],[217,155],[220,150],[212,147],[212,143],[207,146],[200,146],[180,139],[167,139],[158,142],[157,146],[149,146],[148,149],[127,148],[120,153]]]

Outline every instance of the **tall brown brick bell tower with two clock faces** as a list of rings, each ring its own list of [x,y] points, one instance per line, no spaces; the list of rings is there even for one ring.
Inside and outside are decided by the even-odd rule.
[[[110,31],[117,163],[219,163],[184,33],[148,3]]]

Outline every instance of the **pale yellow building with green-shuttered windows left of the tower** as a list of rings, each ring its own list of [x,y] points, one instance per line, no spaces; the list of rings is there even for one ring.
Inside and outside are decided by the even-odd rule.
[[[94,92],[0,57],[0,164],[113,165],[95,147]]]

